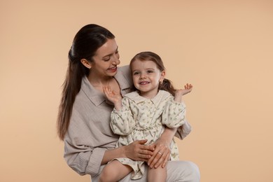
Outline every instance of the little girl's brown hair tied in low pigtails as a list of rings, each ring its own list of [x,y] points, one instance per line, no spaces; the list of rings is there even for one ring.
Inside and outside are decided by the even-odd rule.
[[[165,71],[165,66],[162,62],[162,59],[159,55],[155,54],[154,52],[139,52],[137,55],[135,55],[131,62],[130,62],[130,68],[132,69],[132,62],[134,62],[135,60],[140,60],[140,61],[152,61],[154,62],[158,69],[160,71]],[[137,90],[136,87],[133,88],[133,90]],[[168,79],[164,79],[163,83],[160,83],[158,90],[165,90],[167,92],[169,92],[170,94],[174,95],[176,90],[174,89],[174,86],[172,85],[172,81],[168,80]]]

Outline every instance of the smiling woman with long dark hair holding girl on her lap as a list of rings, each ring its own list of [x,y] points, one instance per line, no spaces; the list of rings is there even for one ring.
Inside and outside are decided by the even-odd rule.
[[[179,129],[167,129],[151,146],[146,140],[115,148],[118,135],[109,122],[113,104],[106,100],[103,87],[110,86],[121,95],[130,92],[129,66],[120,64],[115,36],[99,25],[86,25],[78,31],[69,50],[69,67],[59,105],[57,130],[64,140],[64,158],[80,175],[90,174],[97,181],[104,165],[114,158],[146,161],[149,167],[167,165],[167,181],[200,181],[193,162],[167,162],[172,138],[183,139],[190,133],[186,123]],[[160,151],[160,154],[158,153]],[[146,181],[147,176],[137,181]],[[130,174],[121,181],[131,181]]]

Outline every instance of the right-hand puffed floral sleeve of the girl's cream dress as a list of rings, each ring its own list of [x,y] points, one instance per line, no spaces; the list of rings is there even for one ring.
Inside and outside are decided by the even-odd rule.
[[[185,123],[186,105],[170,98],[162,113],[162,123],[169,128],[181,127]]]

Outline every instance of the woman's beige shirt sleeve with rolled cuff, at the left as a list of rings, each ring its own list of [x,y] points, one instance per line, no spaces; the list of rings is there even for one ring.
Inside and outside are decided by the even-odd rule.
[[[96,176],[106,148],[96,146],[88,128],[80,114],[73,112],[64,137],[64,160],[78,174]]]

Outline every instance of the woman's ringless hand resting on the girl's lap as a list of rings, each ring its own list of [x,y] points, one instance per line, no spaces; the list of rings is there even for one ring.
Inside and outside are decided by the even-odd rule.
[[[134,141],[128,146],[124,146],[125,148],[125,156],[126,158],[130,158],[132,160],[140,160],[147,162],[151,156],[153,155],[153,151],[155,150],[154,146],[146,146],[147,140],[139,140]]]

